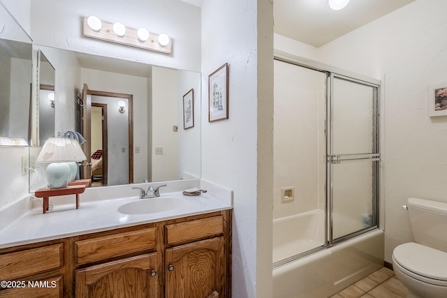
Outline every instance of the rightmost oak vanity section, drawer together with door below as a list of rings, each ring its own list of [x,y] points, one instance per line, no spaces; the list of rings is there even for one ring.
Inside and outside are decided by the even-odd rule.
[[[230,297],[229,213],[165,225],[165,297]]]

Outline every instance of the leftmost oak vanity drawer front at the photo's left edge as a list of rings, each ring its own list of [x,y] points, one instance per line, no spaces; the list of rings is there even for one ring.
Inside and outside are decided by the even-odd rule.
[[[64,244],[0,255],[0,281],[36,274],[64,265]]]

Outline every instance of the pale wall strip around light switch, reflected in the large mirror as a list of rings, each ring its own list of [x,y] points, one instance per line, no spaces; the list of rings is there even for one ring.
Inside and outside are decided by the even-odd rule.
[[[152,181],[178,179],[179,135],[177,70],[152,67]],[[162,148],[163,154],[155,154]]]

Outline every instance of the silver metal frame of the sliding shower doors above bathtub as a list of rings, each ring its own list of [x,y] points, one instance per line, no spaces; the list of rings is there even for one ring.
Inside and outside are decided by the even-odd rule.
[[[312,61],[310,59],[306,59],[303,57],[297,57],[295,55],[281,52],[278,50],[274,51],[274,60],[285,62],[287,64],[292,64],[295,66],[300,66],[303,68],[308,68],[311,70],[316,70],[321,73],[325,73],[326,75],[326,81],[325,81],[325,142],[326,142],[326,152],[325,152],[325,168],[326,168],[326,179],[325,179],[325,243],[322,246],[318,246],[316,248],[312,248],[309,251],[305,251],[302,253],[298,253],[297,255],[293,255],[289,258],[286,258],[284,260],[279,260],[277,262],[274,262],[273,267],[280,267],[282,265],[285,265],[289,262],[293,262],[294,260],[298,260],[300,258],[303,258],[307,255],[312,255],[313,253],[317,253],[318,251],[323,251],[326,248],[329,248],[330,246],[342,243],[344,241],[347,241],[353,237],[358,236],[359,234],[363,234],[365,232],[369,232],[372,230],[379,229],[380,225],[380,216],[379,216],[379,209],[380,209],[380,170],[379,170],[379,163],[380,163],[380,95],[381,95],[381,81],[376,80],[371,77],[366,77],[364,75],[358,75],[356,73],[350,73],[346,70],[341,70],[339,68],[335,68],[332,66],[328,66],[326,64],[321,64],[317,61]],[[373,181],[372,183],[375,184],[373,186],[373,193],[375,193],[375,200],[373,202],[373,217],[375,225],[372,225],[370,228],[365,228],[362,230],[359,230],[357,232],[353,232],[351,234],[347,234],[344,237],[339,237],[338,239],[332,239],[332,228],[333,228],[333,222],[332,222],[332,207],[333,207],[333,193],[332,193],[332,186],[328,186],[330,184],[330,179],[332,179],[332,167],[331,167],[331,156],[330,156],[330,149],[331,149],[331,130],[332,130],[332,101],[333,101],[333,82],[334,78],[340,78],[342,80],[348,80],[350,82],[356,82],[359,84],[364,84],[370,87],[375,88],[374,89],[374,121],[376,124],[375,128],[375,146],[376,146],[376,154],[365,154],[363,156],[364,158],[360,159],[372,159],[374,160],[374,175],[373,175]],[[342,160],[340,160],[342,161]]]

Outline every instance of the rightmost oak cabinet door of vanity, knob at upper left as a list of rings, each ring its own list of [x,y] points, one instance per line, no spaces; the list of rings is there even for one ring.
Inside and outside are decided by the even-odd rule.
[[[166,249],[166,298],[227,297],[223,237]]]

